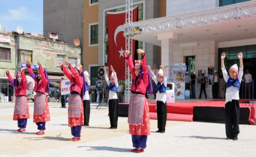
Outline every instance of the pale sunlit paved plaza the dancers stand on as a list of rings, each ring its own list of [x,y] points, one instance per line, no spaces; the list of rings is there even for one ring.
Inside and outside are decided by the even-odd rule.
[[[225,125],[206,122],[167,121],[164,134],[155,133],[157,120],[150,120],[151,135],[143,153],[134,153],[126,117],[119,117],[118,128],[110,127],[108,109],[91,104],[90,122],[82,127],[81,140],[69,141],[71,129],[67,108],[49,103],[51,121],[46,122],[45,135],[35,135],[33,103],[29,103],[30,119],[26,132],[15,132],[14,103],[0,104],[0,156],[255,156],[256,126],[240,125],[238,141],[225,140]]]

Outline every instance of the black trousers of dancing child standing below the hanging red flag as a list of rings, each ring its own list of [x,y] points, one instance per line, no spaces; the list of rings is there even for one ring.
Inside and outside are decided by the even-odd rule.
[[[110,120],[110,127],[117,128],[117,121],[118,121],[118,99],[110,99],[109,100],[109,120]]]

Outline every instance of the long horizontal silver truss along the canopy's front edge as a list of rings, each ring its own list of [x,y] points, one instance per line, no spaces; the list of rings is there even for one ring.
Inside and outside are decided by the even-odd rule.
[[[212,23],[219,23],[231,20],[239,20],[256,16],[256,3],[232,8],[220,9],[208,13],[192,14],[182,17],[166,17],[156,21],[130,25],[125,25],[125,34],[134,36],[140,33],[150,33],[179,28],[195,27]]]

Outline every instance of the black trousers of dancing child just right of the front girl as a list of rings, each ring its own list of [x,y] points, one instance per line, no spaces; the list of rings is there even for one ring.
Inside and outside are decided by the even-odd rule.
[[[160,131],[165,131],[167,118],[167,105],[166,102],[157,101],[157,128]]]

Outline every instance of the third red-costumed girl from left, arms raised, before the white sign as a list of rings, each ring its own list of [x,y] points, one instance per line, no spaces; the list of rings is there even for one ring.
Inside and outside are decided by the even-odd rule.
[[[71,73],[63,66],[62,62],[58,62],[61,70],[70,80],[70,97],[68,100],[68,126],[71,127],[71,134],[73,138],[71,141],[79,141],[82,125],[84,125],[84,108],[83,99],[86,91],[86,83],[84,80],[84,73],[81,65],[75,68],[67,61],[65,64]]]

